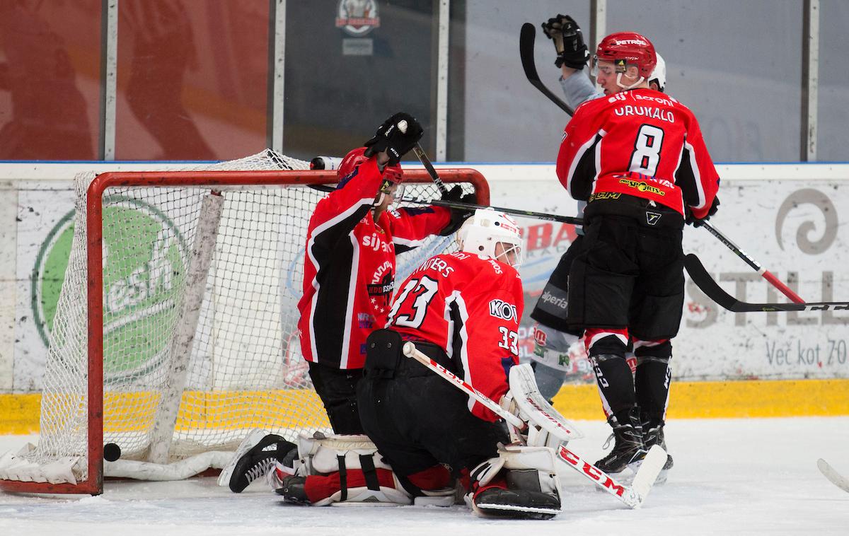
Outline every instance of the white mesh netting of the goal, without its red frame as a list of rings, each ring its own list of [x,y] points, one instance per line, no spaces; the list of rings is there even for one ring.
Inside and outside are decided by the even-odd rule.
[[[194,170],[308,168],[267,149]],[[93,178],[76,177],[73,247],[48,350],[41,438],[23,456],[33,465],[87,456],[85,224]],[[149,460],[152,444],[166,445],[167,460],[158,462],[167,463],[233,450],[255,428],[291,439],[328,427],[296,332],[306,224],[324,193],[291,185],[216,189],[220,221],[209,216],[209,186],[104,193],[104,444],[118,444],[122,460]],[[438,197],[430,183],[408,184],[409,192]],[[202,229],[214,248],[199,245]],[[453,237],[434,237],[399,255],[397,281],[453,247]],[[208,276],[201,271],[194,287],[187,284],[193,250],[210,253]],[[181,330],[183,339],[194,338],[190,346],[174,342]],[[163,409],[168,405],[173,415]],[[77,480],[87,477],[84,463],[74,472]],[[0,470],[0,477],[9,475]]]

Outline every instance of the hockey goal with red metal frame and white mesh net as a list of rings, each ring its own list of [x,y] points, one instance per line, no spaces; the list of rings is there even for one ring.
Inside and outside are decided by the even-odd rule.
[[[488,204],[475,170],[440,176]],[[270,149],[194,170],[77,176],[40,438],[0,456],[0,488],[98,494],[104,476],[220,468],[256,428],[290,439],[328,428],[296,304],[306,225],[319,185],[335,179]],[[412,197],[439,198],[424,170],[405,179]],[[397,281],[452,248],[432,237],[400,254]],[[120,459],[104,462],[106,444]]]

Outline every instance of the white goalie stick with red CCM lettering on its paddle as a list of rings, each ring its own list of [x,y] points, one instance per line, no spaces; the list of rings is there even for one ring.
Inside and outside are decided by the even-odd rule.
[[[469,385],[469,383],[464,382],[462,378],[455,375],[452,371],[447,370],[447,368],[441,366],[435,360],[432,360],[427,355],[419,352],[419,350],[416,349],[415,344],[410,342],[404,343],[403,353],[408,358],[417,360],[431,371],[436,372],[436,374],[441,376],[447,382],[450,382],[454,387],[460,389],[465,394],[468,394],[482,405],[485,405],[489,410],[492,410],[493,413],[503,418],[504,421],[509,422],[514,427],[520,429],[525,427],[526,423],[519,417],[514,416],[508,410],[503,409],[485,394],[482,394],[480,391],[473,388]],[[559,461],[562,461],[572,469],[575,469],[584,477],[588,478],[590,482],[599,486],[599,488],[604,489],[604,491],[621,500],[631,508],[639,508],[639,506],[643,504],[643,501],[649,494],[649,490],[653,485],[655,485],[657,475],[660,474],[661,469],[663,469],[664,464],[666,464],[666,451],[662,449],[660,445],[653,446],[649,449],[649,453],[645,455],[639,471],[637,472],[637,476],[634,477],[632,485],[627,486],[623,483],[619,483],[606,472],[596,466],[593,466],[593,464],[588,461],[584,461],[581,456],[576,455],[570,449],[567,449],[565,445],[561,444],[558,449],[555,449],[555,454]]]

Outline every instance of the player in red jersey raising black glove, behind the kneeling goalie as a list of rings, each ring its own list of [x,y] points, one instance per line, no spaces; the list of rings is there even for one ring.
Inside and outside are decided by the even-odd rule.
[[[389,313],[396,254],[463,221],[441,207],[387,210],[403,181],[398,161],[422,133],[408,114],[386,120],[342,160],[339,186],[318,202],[307,227],[301,352],[336,433],[363,433],[354,389],[368,333]]]

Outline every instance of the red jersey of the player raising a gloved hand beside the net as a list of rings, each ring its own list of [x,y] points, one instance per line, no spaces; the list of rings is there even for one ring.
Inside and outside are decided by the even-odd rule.
[[[304,293],[298,329],[304,359],[363,368],[368,334],[383,327],[395,286],[395,255],[417,247],[451,221],[443,207],[372,206],[382,176],[375,159],[346,176],[316,205],[306,231]]]

